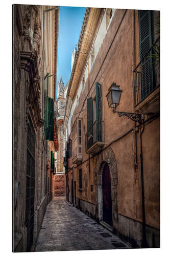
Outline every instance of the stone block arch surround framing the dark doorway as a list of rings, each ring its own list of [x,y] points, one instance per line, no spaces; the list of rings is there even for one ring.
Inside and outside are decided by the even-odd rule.
[[[117,164],[112,148],[109,146],[98,155],[94,168],[95,185],[95,216],[99,221],[103,221],[103,195],[102,195],[102,174],[105,163],[108,163],[111,178],[111,198],[112,198],[112,221],[113,230],[118,229],[118,210],[117,210]]]

